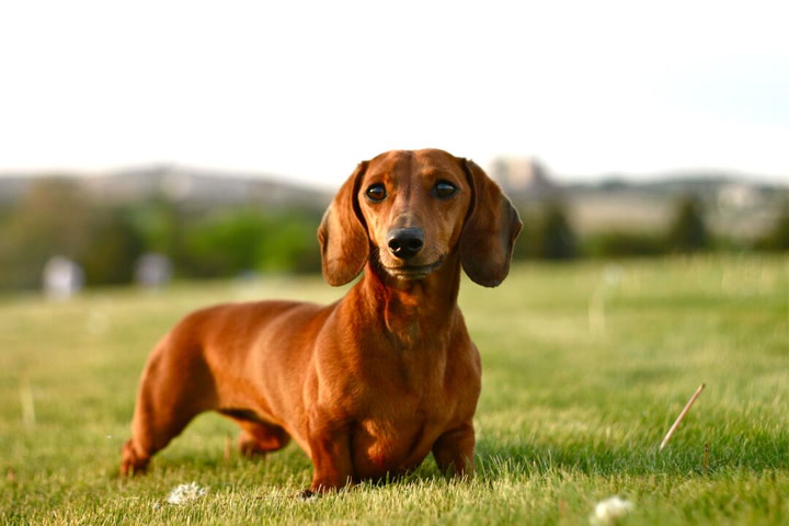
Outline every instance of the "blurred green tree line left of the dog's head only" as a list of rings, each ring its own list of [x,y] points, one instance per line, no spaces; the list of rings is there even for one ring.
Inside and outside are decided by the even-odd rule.
[[[148,253],[168,256],[178,278],[319,272],[321,216],[308,207],[191,207],[163,195],[103,205],[67,179],[42,181],[0,210],[0,289],[37,287],[55,255],[79,264],[89,286],[132,283]]]

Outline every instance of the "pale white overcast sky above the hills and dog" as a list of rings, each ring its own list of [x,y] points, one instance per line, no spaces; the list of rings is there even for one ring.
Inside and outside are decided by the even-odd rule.
[[[336,186],[436,147],[789,181],[789,2],[0,0],[0,172]]]

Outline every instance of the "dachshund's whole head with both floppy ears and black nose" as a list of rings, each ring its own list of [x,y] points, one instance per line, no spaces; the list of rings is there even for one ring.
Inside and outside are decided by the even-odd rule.
[[[389,151],[359,163],[323,215],[323,276],[348,283],[373,253],[390,276],[422,279],[459,251],[466,274],[494,287],[510,272],[522,226],[472,161],[434,149]]]

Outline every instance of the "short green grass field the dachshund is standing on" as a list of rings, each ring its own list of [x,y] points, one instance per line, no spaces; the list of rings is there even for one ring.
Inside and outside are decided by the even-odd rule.
[[[397,482],[302,502],[311,466],[297,446],[226,457],[237,432],[213,414],[148,476],[116,476],[144,361],[180,317],[341,294],[271,278],[0,298],[0,523],[588,524],[621,495],[634,504],[621,524],[789,524],[786,256],[518,265],[498,289],[466,281],[484,364],[469,481],[444,480],[430,458]],[[192,481],[207,494],[164,502]]]

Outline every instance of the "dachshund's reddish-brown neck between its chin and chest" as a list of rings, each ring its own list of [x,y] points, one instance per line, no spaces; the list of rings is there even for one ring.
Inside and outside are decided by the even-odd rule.
[[[398,279],[375,261],[367,263],[358,287],[365,290],[368,304],[387,331],[407,346],[416,341],[441,338],[449,331],[458,316],[457,296],[460,286],[460,259],[447,256],[441,268],[423,279]]]

